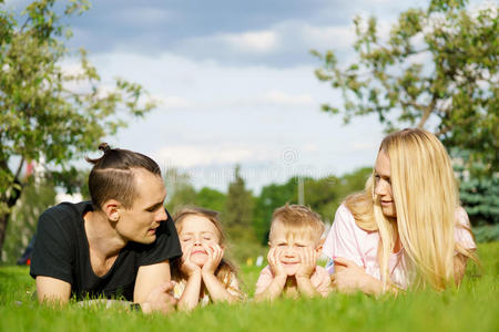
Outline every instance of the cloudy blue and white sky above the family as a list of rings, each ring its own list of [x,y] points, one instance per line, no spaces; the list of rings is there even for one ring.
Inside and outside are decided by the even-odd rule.
[[[23,8],[28,1],[8,0]],[[176,167],[196,188],[226,190],[236,164],[251,189],[293,175],[343,175],[371,166],[383,139],[375,116],[343,124],[320,104],[342,105],[319,82],[312,49],[353,56],[356,14],[388,31],[398,14],[426,1],[101,0],[68,20],[71,49],[89,52],[104,83],[142,84],[159,106],[111,146]],[[67,64],[69,68],[71,63]]]

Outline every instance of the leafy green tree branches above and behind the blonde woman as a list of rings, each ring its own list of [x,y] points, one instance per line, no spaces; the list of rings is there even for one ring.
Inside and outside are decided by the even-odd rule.
[[[333,51],[320,54],[316,75],[343,93],[352,116],[377,114],[386,131],[434,127],[449,149],[466,152],[467,168],[499,169],[498,7],[470,11],[467,0],[431,0],[403,12],[384,40],[377,22],[354,20],[357,60],[343,68]],[[472,169],[473,164],[482,167]]]

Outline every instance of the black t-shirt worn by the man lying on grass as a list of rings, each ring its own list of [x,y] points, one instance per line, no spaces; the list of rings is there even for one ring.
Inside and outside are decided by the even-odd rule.
[[[31,277],[52,277],[71,283],[78,300],[90,298],[121,298],[133,301],[139,267],[172,260],[182,256],[173,220],[160,222],[156,240],[150,245],[128,242],[114,264],[98,277],[90,263],[89,242],[83,215],[92,210],[90,201],[62,203],[44,211],[38,221]]]

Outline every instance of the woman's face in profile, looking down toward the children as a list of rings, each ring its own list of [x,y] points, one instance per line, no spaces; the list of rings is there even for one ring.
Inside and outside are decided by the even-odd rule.
[[[381,204],[383,214],[390,218],[397,217],[397,210],[395,209],[395,201],[391,191],[390,159],[384,151],[380,151],[378,157],[376,158],[375,194],[378,196]]]

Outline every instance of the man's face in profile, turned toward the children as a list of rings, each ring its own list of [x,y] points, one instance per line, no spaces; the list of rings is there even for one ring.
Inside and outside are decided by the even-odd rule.
[[[126,241],[152,243],[156,239],[160,221],[167,218],[163,206],[166,190],[161,177],[143,168],[133,172],[138,197],[131,208],[119,209],[116,232]]]

